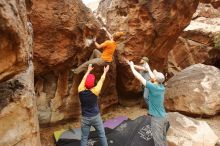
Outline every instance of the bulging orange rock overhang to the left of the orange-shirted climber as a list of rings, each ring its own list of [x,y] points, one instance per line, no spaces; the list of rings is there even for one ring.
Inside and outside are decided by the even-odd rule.
[[[87,47],[86,41],[100,30],[92,12],[79,0],[33,0],[30,18],[34,28],[36,74],[84,62],[93,49]]]

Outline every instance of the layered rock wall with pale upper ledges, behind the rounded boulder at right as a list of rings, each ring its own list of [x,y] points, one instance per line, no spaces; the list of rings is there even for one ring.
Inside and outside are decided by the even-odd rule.
[[[170,76],[197,63],[220,68],[220,49],[215,41],[220,35],[220,9],[214,9],[210,4],[199,4],[193,18],[169,52]]]

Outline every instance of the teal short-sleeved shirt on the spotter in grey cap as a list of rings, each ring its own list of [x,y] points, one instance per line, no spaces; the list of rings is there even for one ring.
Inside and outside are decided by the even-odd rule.
[[[146,82],[146,88],[149,90],[149,114],[155,117],[165,117],[163,84],[153,84],[151,81]]]

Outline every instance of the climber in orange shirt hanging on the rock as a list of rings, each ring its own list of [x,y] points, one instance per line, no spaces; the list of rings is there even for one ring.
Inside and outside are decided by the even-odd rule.
[[[93,53],[89,58],[89,61],[83,63],[78,68],[72,69],[72,71],[75,74],[79,74],[82,71],[85,71],[89,64],[105,66],[112,62],[113,55],[117,47],[116,42],[122,35],[124,35],[124,32],[116,32],[112,36],[110,34],[108,35],[110,37],[110,40],[107,40],[102,44],[98,44],[96,42],[96,38],[94,38],[94,43],[97,49],[93,50]],[[103,52],[101,53],[99,49],[102,49]]]

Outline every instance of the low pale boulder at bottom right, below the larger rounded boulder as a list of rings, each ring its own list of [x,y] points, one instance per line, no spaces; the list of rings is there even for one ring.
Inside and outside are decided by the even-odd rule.
[[[170,128],[167,133],[169,146],[215,146],[218,137],[204,122],[179,113],[169,113]]]

